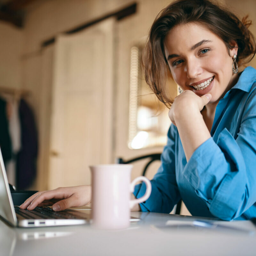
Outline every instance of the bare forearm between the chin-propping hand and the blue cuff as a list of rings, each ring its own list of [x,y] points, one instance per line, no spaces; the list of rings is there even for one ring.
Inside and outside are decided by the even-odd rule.
[[[203,116],[199,111],[181,110],[175,118],[180,140],[187,161],[201,144],[211,138],[211,134],[204,123]]]

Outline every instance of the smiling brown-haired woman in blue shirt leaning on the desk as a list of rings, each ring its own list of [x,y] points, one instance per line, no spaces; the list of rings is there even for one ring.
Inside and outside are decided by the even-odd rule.
[[[151,196],[133,210],[169,213],[181,198],[195,216],[256,217],[256,70],[238,73],[256,51],[248,25],[207,0],[177,1],[156,17],[143,67],[153,92],[171,106],[172,125]],[[165,85],[168,69],[183,90],[173,101]],[[134,195],[145,189],[137,185]],[[20,208],[63,198],[54,210],[81,206],[90,202],[90,191],[39,192]]]

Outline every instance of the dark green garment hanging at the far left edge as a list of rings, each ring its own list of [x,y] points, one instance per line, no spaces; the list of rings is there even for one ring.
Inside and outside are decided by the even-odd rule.
[[[12,158],[12,143],[6,116],[6,101],[0,98],[0,147],[4,164]]]

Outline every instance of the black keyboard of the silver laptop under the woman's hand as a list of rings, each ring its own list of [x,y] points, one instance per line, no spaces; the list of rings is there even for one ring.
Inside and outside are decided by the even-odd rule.
[[[16,214],[19,214],[25,219],[83,219],[81,216],[76,216],[70,212],[54,212],[50,207],[36,207],[32,211],[20,209],[19,206],[14,206]]]

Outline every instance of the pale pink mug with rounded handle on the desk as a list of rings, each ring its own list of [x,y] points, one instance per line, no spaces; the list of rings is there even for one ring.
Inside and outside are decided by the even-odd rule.
[[[131,183],[132,164],[99,164],[90,166],[92,172],[92,225],[101,229],[130,226],[130,211],[135,204],[148,199],[151,183],[143,176]],[[131,200],[138,181],[146,183],[144,196]]]

